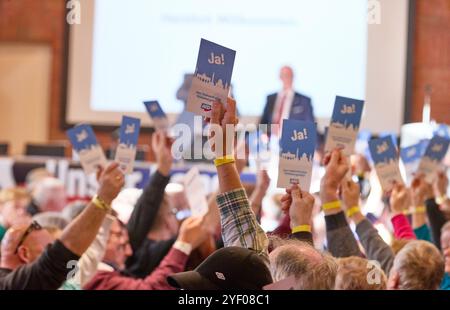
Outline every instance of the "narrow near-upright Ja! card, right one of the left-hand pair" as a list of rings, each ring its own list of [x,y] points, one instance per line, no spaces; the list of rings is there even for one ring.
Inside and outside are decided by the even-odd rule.
[[[133,172],[140,127],[140,119],[122,116],[115,161],[119,163],[120,170],[125,174]]]

